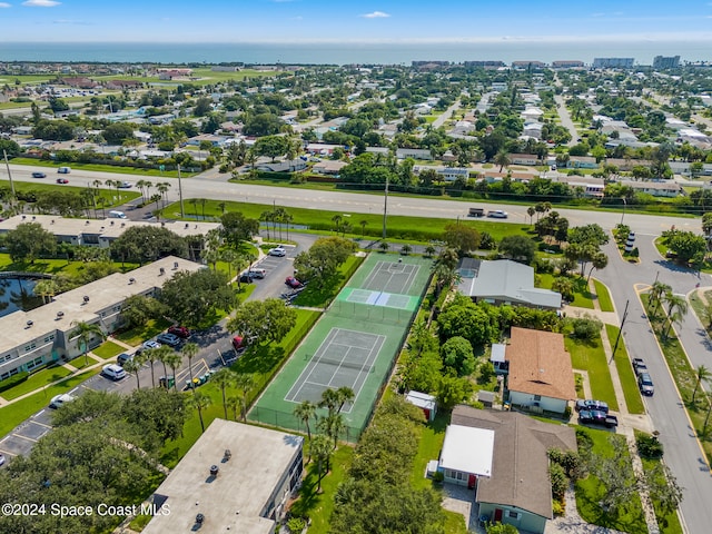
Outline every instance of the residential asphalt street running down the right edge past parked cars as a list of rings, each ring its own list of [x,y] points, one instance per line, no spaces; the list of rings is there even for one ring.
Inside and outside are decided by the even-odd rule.
[[[637,265],[624,261],[613,243],[606,245],[609,266],[595,276],[610,287],[620,317],[623,316],[625,303],[630,303],[623,337],[631,358],[643,358],[647,364],[655,386],[652,397],[643,397],[645,407],[655,429],[660,432],[665,451],[664,459],[683,488],[684,498],[680,510],[688,532],[705,533],[712,525],[712,506],[709,505],[712,476],[637,291],[644,290],[657,278],[671,285],[674,293],[684,295],[693,290],[698,283],[710,286],[711,278],[709,275],[698,277],[695,271],[664,260],[651,237],[639,235],[635,245],[641,253],[641,263]],[[708,338],[700,330],[701,327],[690,310],[681,336],[694,366],[705,363],[710,354]]]

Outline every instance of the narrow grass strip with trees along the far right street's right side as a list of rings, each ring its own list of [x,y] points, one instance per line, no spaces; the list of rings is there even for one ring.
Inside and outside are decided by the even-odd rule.
[[[657,343],[663,350],[663,355],[668,362],[668,367],[670,368],[682,402],[688,411],[688,416],[692,421],[692,426],[700,439],[700,444],[702,445],[702,449],[704,451],[708,462],[712,462],[712,436],[708,434],[708,437],[704,438],[702,433],[708,405],[704,403],[702,395],[698,395],[695,403],[692,404],[692,392],[696,384],[695,369],[690,365],[688,355],[675,336],[674,330],[671,330],[668,337],[663,335],[668,329],[669,322],[666,318],[662,318],[662,312],[657,312],[657,317],[651,315],[651,309],[647,306],[649,299],[650,295],[641,295],[643,308],[647,310],[647,320],[653,327]]]

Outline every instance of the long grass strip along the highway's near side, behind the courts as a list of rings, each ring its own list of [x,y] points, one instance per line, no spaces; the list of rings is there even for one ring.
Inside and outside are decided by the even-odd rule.
[[[395,196],[395,195],[393,195]],[[207,200],[205,204],[205,214],[207,220],[216,220],[219,218],[224,210],[221,204],[225,204],[225,210],[227,211],[240,211],[245,217],[259,219],[260,215],[265,211],[271,211],[274,206],[271,204],[245,204],[245,202],[221,202],[217,200]],[[186,208],[186,215],[189,215],[192,210]],[[202,205],[200,205],[200,215],[202,215]],[[306,208],[287,208],[289,215],[294,217],[294,225],[305,225],[312,229],[330,230],[334,228],[334,221],[332,218],[335,215],[344,216],[344,211],[324,211],[317,209]],[[346,214],[348,215],[348,214]],[[180,218],[180,206],[178,204],[171,204],[162,210],[164,217],[178,217]],[[348,237],[360,237],[363,234],[372,237],[380,237],[383,228],[383,215],[380,214],[354,214],[349,219],[353,226],[353,231]],[[365,221],[365,226],[362,224]],[[431,219],[426,217],[406,217],[406,216],[388,216],[387,229],[388,239],[441,239],[445,225],[455,222],[453,219]],[[461,225],[471,226],[478,231],[487,231],[496,240],[501,240],[504,236],[522,235],[527,236],[530,231],[528,225],[517,224],[500,224],[487,220],[468,220],[461,218]],[[287,237],[287,236],[285,236]],[[288,239],[288,237],[287,237]]]

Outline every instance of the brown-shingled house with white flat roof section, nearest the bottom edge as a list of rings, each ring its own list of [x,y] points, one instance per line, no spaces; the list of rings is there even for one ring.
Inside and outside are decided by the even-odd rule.
[[[486,433],[494,433],[492,447],[483,447],[476,443],[452,443],[465,456],[490,455],[485,458],[471,458],[474,465],[483,462],[491,464],[491,473],[477,476],[474,485],[479,517],[514,525],[522,532],[543,533],[547,520],[553,517],[547,451],[576,451],[574,429],[565,425],[543,423],[516,412],[476,409],[465,405],[453,409],[445,443],[454,427],[476,429],[484,433],[483,436],[487,439]],[[467,437],[462,431],[451,437],[456,437],[457,434]],[[457,475],[456,473],[444,469],[444,475],[447,482],[457,483],[456,476],[452,476]],[[471,482],[468,474],[459,479],[463,485]]]

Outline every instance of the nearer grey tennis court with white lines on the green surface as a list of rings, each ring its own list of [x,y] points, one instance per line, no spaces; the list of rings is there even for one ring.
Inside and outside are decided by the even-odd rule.
[[[344,386],[350,387],[357,399],[368,373],[375,369],[378,352],[385,339],[385,336],[332,328],[316,354],[307,358],[309,363],[285,400],[310,400],[316,404],[325,389]],[[350,403],[342,408],[343,413],[350,411]]]

